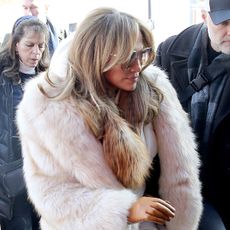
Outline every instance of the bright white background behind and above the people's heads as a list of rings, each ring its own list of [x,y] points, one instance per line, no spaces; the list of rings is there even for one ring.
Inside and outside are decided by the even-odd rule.
[[[148,0],[48,0],[49,17],[59,28],[68,28],[69,23],[79,22],[87,12],[110,6],[126,11],[148,21]],[[153,30],[156,44],[176,34],[191,24],[191,1],[151,0]],[[0,41],[11,31],[14,21],[23,14],[21,0],[0,0]]]

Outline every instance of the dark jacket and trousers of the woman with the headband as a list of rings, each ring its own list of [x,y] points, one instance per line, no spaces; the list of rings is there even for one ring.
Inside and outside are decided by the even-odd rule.
[[[15,125],[15,111],[23,90],[21,83],[13,83],[2,70],[0,63],[0,226],[3,230],[32,230],[37,221],[27,200]],[[22,73],[19,76],[21,79],[32,77]]]

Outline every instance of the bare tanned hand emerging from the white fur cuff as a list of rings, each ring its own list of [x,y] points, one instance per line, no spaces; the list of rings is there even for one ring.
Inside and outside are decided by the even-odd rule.
[[[128,222],[152,221],[163,225],[174,216],[175,209],[168,202],[160,198],[143,196],[130,208]]]

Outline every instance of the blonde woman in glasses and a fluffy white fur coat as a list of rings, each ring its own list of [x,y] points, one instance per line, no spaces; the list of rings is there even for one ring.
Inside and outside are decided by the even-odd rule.
[[[194,135],[154,56],[140,20],[98,8],[26,85],[17,124],[42,230],[197,228]],[[145,196],[157,154],[160,197]]]

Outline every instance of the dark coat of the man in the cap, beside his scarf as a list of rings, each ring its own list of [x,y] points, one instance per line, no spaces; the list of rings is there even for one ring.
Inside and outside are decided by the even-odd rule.
[[[203,24],[193,25],[177,36],[161,43],[157,49],[155,64],[164,69],[180,94],[189,84],[188,57]],[[230,63],[229,63],[230,66]],[[228,70],[229,71],[229,70]],[[221,77],[221,76],[220,76]],[[188,111],[188,108],[184,106]],[[230,72],[223,88],[213,129],[209,139],[208,158],[202,162],[201,177],[203,196],[222,214],[229,224],[230,212]],[[202,152],[200,152],[202,155]]]

